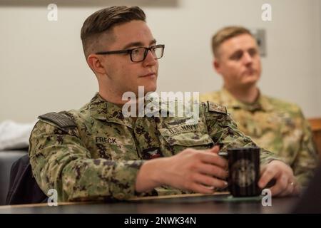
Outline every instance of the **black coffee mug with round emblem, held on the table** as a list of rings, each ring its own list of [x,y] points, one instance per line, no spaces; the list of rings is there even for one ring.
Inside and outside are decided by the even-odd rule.
[[[234,197],[260,195],[260,147],[228,149],[228,185]]]

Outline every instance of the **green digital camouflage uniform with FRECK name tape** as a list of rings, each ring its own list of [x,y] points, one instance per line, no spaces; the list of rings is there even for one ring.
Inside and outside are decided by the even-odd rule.
[[[177,154],[186,147],[255,146],[230,120],[226,108],[200,104],[198,123],[190,118],[124,118],[121,108],[96,94],[80,110],[41,115],[31,133],[29,157],[36,182],[58,201],[128,199],[143,162]],[[193,120],[193,118],[192,118]],[[261,162],[274,159],[262,150]],[[158,187],[145,195],[181,194]]]

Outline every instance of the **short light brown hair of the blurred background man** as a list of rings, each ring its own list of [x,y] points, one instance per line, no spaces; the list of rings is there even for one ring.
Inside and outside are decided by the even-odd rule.
[[[243,34],[248,34],[250,36],[253,36],[250,30],[248,28],[244,28],[241,26],[228,26],[221,28],[215,35],[212,37],[212,51],[215,56],[215,58],[218,57],[218,48],[220,48],[220,45],[227,41],[230,38],[233,38],[235,36],[240,36]]]

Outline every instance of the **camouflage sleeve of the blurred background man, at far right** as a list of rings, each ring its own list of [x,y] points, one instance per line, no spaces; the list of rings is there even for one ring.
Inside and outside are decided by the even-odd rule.
[[[300,120],[299,123],[301,123],[298,128],[302,129],[302,138],[300,142],[300,152],[297,153],[292,168],[295,177],[297,177],[297,181],[303,187],[306,187],[315,173],[315,169],[319,164],[319,159],[315,144],[312,140],[310,125],[303,116],[301,110],[298,113],[297,118]]]

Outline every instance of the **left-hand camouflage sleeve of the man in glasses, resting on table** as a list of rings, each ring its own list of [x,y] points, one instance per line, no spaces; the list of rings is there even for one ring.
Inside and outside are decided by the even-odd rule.
[[[135,195],[143,160],[92,159],[77,128],[61,129],[39,120],[30,137],[30,163],[41,190],[58,192],[58,201],[128,199]]]

